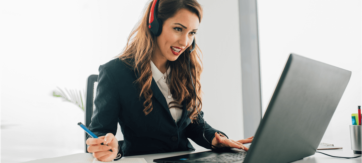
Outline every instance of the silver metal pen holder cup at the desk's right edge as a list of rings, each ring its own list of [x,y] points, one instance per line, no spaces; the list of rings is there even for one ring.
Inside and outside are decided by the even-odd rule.
[[[362,125],[349,125],[349,131],[351,135],[351,149],[355,154],[361,154],[361,132],[362,132]]]

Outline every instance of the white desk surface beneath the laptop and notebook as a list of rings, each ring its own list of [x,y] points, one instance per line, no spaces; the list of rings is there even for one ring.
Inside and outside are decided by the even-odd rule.
[[[182,152],[171,152],[171,153],[159,153],[159,154],[148,154],[148,155],[138,155],[138,156],[129,156],[129,157],[123,157],[123,158],[144,158],[148,163],[153,163],[153,159],[158,158],[165,158],[165,157],[172,157],[177,155],[184,155],[189,153],[196,153],[196,152],[202,152],[207,151],[208,149],[202,149],[202,150],[196,150],[196,151],[182,151]],[[332,150],[318,150],[323,153],[334,155],[334,156],[340,156],[340,157],[355,157],[359,154],[354,154],[351,149],[332,149]],[[56,157],[56,158],[45,158],[45,159],[38,159],[33,160],[25,163],[60,163],[66,160],[66,163],[92,163],[92,160],[83,160],[80,157],[84,156],[91,156],[90,153],[82,153],[82,154],[73,154],[73,155],[67,155],[62,157]],[[73,158],[76,158],[77,160],[73,160]],[[306,157],[304,159],[295,161],[293,163],[361,163],[362,158],[354,158],[354,159],[344,159],[344,158],[333,158],[329,157],[324,154],[316,153],[314,155],[311,155],[309,157]],[[110,162],[111,163],[111,162]]]

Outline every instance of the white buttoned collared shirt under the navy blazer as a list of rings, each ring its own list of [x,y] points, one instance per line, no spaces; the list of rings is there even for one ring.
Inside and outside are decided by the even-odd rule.
[[[170,67],[168,67],[167,71],[164,74],[162,74],[162,72],[159,69],[157,69],[156,65],[151,61],[151,71],[152,71],[152,77],[153,79],[155,79],[157,86],[160,88],[160,91],[162,92],[163,96],[165,96],[168,105],[171,101],[174,101],[170,89],[168,87],[168,80],[167,80],[168,74],[170,74],[171,69]],[[171,96],[171,98],[168,98],[169,95]],[[171,105],[169,105],[170,113],[172,115],[172,118],[177,123],[181,119],[182,109],[172,107],[173,105],[175,104],[172,103]],[[182,107],[182,105],[178,106]]]

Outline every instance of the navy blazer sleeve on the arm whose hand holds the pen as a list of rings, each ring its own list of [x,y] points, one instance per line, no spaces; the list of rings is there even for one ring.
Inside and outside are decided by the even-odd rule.
[[[98,137],[105,136],[107,133],[113,135],[117,132],[118,114],[121,108],[117,85],[111,72],[107,67],[101,65],[98,69],[98,85],[96,89],[96,98],[94,99],[92,122],[89,130]],[[89,135],[87,135],[87,138]],[[118,142],[118,154],[123,156],[121,144]],[[117,154],[117,155],[118,155]]]

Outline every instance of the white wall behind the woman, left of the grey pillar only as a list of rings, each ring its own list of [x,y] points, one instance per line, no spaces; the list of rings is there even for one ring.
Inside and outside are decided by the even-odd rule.
[[[77,125],[84,112],[51,92],[57,86],[83,90],[87,76],[121,52],[146,1],[0,1],[1,163],[84,152]],[[205,10],[197,35],[205,118],[242,139],[237,0],[199,2]]]

